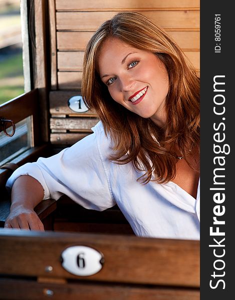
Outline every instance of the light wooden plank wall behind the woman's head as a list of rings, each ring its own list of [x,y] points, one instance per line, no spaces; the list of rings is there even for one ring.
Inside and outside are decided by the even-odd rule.
[[[84,49],[93,32],[118,11],[134,10],[151,18],[163,27],[179,44],[199,72],[199,0],[49,0],[51,32],[51,113],[53,117],[77,117],[79,113],[65,111],[69,96],[79,94]],[[63,96],[61,92],[64,91]],[[67,92],[69,94],[67,94]],[[58,105],[58,97],[64,104]],[[56,101],[56,102],[55,102]],[[82,117],[94,116],[91,112]],[[71,122],[73,123],[74,120]],[[63,120],[62,122],[65,122]],[[95,120],[94,120],[95,122]],[[58,123],[51,120],[52,133],[60,133]],[[67,121],[68,123],[68,121]],[[84,130],[70,123],[61,133],[71,133],[71,142]],[[63,126],[63,125],[62,125]],[[69,131],[69,132],[68,132]],[[88,130],[89,131],[89,130]],[[72,139],[71,139],[72,138]],[[63,143],[57,135],[53,143]]]

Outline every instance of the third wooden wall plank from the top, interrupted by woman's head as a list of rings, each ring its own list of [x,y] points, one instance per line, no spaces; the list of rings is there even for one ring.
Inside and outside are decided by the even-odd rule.
[[[84,50],[93,32],[57,32],[59,50]],[[199,31],[168,31],[182,49],[199,49]],[[58,53],[58,55],[60,55]],[[59,67],[60,68],[60,67]]]

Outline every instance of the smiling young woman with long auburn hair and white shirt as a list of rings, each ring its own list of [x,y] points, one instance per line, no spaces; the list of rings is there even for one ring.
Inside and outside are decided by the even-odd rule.
[[[34,207],[67,194],[90,209],[117,203],[136,235],[199,239],[199,78],[182,50],[120,12],[88,42],[82,95],[101,121],[13,173],[5,227],[43,230]]]

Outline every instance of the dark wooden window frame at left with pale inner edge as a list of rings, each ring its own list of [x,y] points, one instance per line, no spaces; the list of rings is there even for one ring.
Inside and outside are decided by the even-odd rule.
[[[48,23],[47,1],[21,1],[25,93],[0,105],[0,117],[11,119],[14,123],[27,116],[32,116],[33,147],[9,161],[19,166],[51,153],[49,144],[49,79],[51,71]],[[11,173],[10,169],[0,166],[1,192],[6,192],[5,184]]]

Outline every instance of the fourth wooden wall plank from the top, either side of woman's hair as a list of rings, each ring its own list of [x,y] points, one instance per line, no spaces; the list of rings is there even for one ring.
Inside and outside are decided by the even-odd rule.
[[[200,68],[199,51],[184,51],[195,68]],[[58,52],[58,68],[60,71],[73,70],[81,71],[83,66],[83,51],[59,51]],[[53,112],[54,113],[54,112]]]

